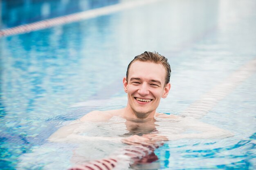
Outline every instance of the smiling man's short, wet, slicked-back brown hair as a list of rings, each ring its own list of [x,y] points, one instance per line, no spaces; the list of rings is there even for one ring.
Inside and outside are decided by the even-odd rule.
[[[148,52],[145,51],[141,55],[137,55],[128,65],[127,71],[126,71],[126,81],[128,82],[128,74],[129,74],[129,69],[132,63],[136,61],[141,61],[141,62],[153,62],[155,64],[161,64],[164,69],[166,70],[166,76],[165,76],[165,84],[168,84],[170,82],[170,77],[171,77],[171,67],[170,64],[167,61],[167,58],[164,57],[164,55],[160,55],[157,52]]]

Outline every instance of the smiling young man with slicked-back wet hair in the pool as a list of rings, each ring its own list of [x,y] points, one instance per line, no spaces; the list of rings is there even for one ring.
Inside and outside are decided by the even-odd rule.
[[[223,138],[232,135],[227,130],[193,118],[157,113],[161,98],[166,98],[170,91],[170,76],[171,68],[166,57],[147,51],[137,55],[128,65],[126,77],[123,79],[124,91],[128,97],[126,107],[92,111],[58,129],[49,140],[79,144],[72,156],[72,162],[83,163],[91,160],[92,155],[87,155],[87,150],[96,148],[95,152],[99,152],[108,149],[97,149],[101,146],[97,145],[97,141],[109,142],[108,146],[111,147],[121,142],[154,147],[168,140]],[[104,153],[105,151],[96,155]],[[155,157],[154,154],[150,156]],[[145,157],[143,160],[150,162],[152,157]]]

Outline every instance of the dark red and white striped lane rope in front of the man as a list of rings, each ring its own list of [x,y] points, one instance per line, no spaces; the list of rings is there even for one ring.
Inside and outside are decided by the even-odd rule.
[[[116,168],[119,163],[122,164],[127,161],[130,162],[130,164],[137,164],[145,157],[154,155],[154,150],[161,145],[163,145],[163,143],[159,143],[157,147],[146,147],[140,145],[127,146],[116,153],[115,156],[106,159],[88,161],[87,163],[76,165],[68,170],[112,170],[113,168]],[[150,161],[152,160],[154,161],[157,159],[151,159]]]

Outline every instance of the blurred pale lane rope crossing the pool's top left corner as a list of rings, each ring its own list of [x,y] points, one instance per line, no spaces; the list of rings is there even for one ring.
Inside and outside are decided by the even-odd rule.
[[[91,9],[88,11],[73,13],[70,15],[65,15],[65,16],[56,17],[56,18],[47,19],[47,20],[41,20],[38,22],[33,22],[31,24],[14,26],[9,29],[0,30],[0,37],[28,33],[31,31],[46,29],[56,25],[67,24],[67,23],[76,22],[79,20],[86,20],[89,18],[95,18],[101,15],[107,15],[107,14],[121,11],[124,9],[138,7],[138,6],[142,6],[142,5],[157,2],[157,1],[159,0],[136,0],[136,1],[123,2],[115,5],[110,5],[107,7]]]

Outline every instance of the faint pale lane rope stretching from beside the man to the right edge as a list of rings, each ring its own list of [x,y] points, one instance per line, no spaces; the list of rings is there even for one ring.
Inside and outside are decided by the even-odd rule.
[[[226,97],[236,86],[249,78],[256,71],[256,58],[244,64],[237,71],[232,73],[225,81],[220,82],[208,93],[195,101],[184,111],[188,117],[200,118],[207,114],[217,103]]]

